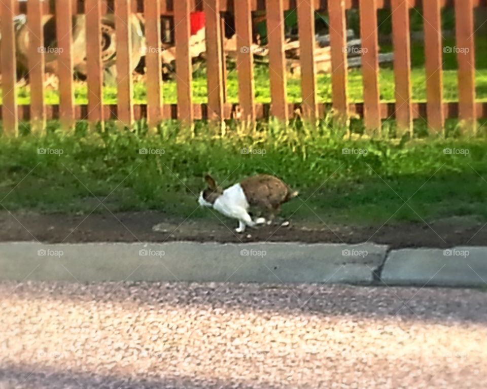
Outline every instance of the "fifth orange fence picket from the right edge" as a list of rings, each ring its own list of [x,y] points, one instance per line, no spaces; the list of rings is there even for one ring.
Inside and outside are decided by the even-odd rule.
[[[343,121],[348,117],[345,1],[329,3],[331,46],[331,91],[333,109]]]

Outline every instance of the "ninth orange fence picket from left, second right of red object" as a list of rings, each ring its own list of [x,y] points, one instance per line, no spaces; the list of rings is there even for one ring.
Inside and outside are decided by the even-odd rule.
[[[252,53],[251,0],[235,2],[237,34],[238,99],[242,119],[255,120],[254,54]]]

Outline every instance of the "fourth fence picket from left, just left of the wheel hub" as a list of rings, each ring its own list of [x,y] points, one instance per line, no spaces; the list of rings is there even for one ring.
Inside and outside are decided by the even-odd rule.
[[[101,2],[86,0],[86,68],[88,120],[103,125],[103,63],[101,61]]]

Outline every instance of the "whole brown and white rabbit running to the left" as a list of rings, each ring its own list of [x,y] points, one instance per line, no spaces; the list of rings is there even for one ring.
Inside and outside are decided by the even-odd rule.
[[[199,204],[213,207],[225,216],[238,220],[236,232],[244,232],[246,227],[258,224],[271,224],[274,217],[281,210],[281,205],[298,195],[282,180],[273,175],[260,174],[249,177],[239,184],[225,190],[217,186],[210,174],[205,175],[208,188],[201,191]],[[250,208],[257,208],[267,214],[265,218],[252,220]]]

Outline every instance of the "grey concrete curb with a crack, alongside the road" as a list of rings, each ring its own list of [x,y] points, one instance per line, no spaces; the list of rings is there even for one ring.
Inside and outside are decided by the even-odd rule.
[[[328,282],[484,287],[487,247],[364,243],[0,243],[0,280]]]

